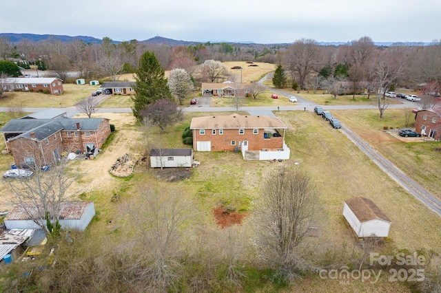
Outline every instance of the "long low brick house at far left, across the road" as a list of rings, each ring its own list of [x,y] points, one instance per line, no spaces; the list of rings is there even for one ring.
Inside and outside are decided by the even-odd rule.
[[[51,95],[61,95],[64,92],[63,80],[54,77],[4,78],[1,85],[6,91],[49,91]]]

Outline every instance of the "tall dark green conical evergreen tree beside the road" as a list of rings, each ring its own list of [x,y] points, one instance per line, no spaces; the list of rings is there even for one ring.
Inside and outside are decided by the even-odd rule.
[[[161,63],[152,52],[146,51],[139,58],[135,80],[132,111],[138,121],[143,120],[141,113],[147,105],[161,98],[173,98],[167,85],[164,70],[161,68]]]

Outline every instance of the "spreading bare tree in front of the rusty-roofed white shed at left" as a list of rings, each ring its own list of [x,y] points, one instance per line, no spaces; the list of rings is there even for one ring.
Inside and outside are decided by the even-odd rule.
[[[51,233],[54,231],[50,226],[56,227],[60,219],[61,203],[74,195],[70,186],[75,177],[68,174],[65,160],[52,165],[50,171],[42,171],[43,166],[36,163],[31,178],[8,182],[14,195],[12,204],[46,233]]]

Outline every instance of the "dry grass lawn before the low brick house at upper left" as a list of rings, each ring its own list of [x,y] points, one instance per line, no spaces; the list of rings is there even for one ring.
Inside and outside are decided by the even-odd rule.
[[[70,107],[86,98],[99,88],[99,85],[63,85],[64,93],[61,96],[12,91],[6,92],[0,99],[0,107]]]

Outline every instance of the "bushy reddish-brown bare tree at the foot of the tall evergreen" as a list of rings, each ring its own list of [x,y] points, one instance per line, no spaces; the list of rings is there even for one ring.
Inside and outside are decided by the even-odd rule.
[[[149,118],[150,121],[161,129],[162,132],[169,124],[177,122],[183,118],[181,109],[176,107],[173,100],[162,98],[148,105],[141,111],[141,117]]]

